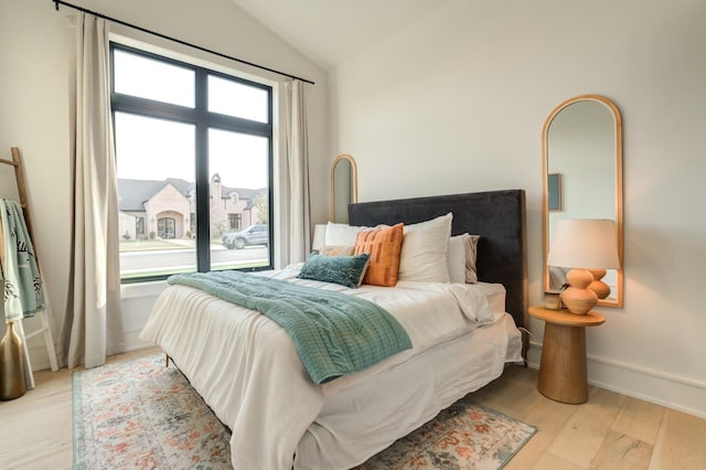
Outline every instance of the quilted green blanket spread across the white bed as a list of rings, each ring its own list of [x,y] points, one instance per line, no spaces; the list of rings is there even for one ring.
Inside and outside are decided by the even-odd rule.
[[[289,333],[318,384],[411,348],[389,312],[355,296],[238,271],[174,275],[168,282],[199,288],[275,321]]]

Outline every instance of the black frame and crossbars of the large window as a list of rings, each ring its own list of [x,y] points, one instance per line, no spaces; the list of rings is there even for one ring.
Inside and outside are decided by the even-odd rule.
[[[157,119],[165,119],[170,121],[191,124],[195,127],[195,186],[196,186],[196,212],[192,215],[190,224],[196,223],[195,231],[195,255],[196,271],[206,273],[211,270],[211,237],[210,237],[210,175],[208,175],[208,129],[218,129],[225,131],[234,131],[250,136],[264,137],[268,139],[268,221],[269,221],[269,239],[272,241],[272,232],[275,226],[274,202],[275,202],[275,178],[274,178],[274,135],[272,135],[272,87],[261,83],[252,82],[212,68],[200,65],[190,64],[178,61],[163,55],[154,54],[141,49],[128,46],[117,42],[110,42],[110,113],[114,117],[115,131],[115,114],[126,113],[137,116],[151,117]],[[170,103],[158,102],[149,98],[142,98],[132,95],[125,95],[115,92],[115,51],[125,51],[163,62],[165,64],[175,65],[182,68],[194,71],[195,78],[195,105],[193,108],[180,106]],[[208,111],[208,76],[217,76],[224,79],[233,81],[255,88],[260,88],[267,93],[267,122],[244,119],[235,116],[222,115]],[[266,266],[248,267],[238,270],[256,271],[274,268],[275,248],[272,243],[268,245],[268,264]],[[120,279],[121,284],[147,282],[153,280],[167,279],[170,274],[158,276],[142,276]]]

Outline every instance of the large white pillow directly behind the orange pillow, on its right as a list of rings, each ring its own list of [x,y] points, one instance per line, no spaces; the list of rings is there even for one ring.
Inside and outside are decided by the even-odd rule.
[[[405,225],[399,254],[398,280],[449,282],[447,250],[453,214]]]

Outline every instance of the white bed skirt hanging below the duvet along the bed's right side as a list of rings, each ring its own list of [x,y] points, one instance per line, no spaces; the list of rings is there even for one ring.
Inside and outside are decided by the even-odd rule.
[[[297,448],[296,469],[350,469],[522,361],[512,317],[328,397]]]

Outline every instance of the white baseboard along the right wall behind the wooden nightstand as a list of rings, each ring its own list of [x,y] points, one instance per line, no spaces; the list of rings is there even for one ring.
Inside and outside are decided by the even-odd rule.
[[[539,368],[542,343],[530,345],[527,365]],[[596,355],[587,365],[591,385],[706,418],[706,383]]]

